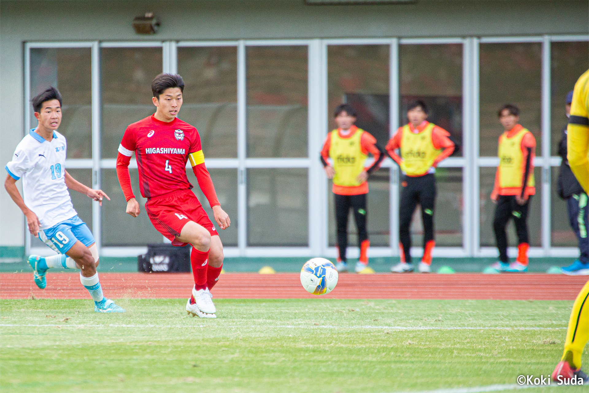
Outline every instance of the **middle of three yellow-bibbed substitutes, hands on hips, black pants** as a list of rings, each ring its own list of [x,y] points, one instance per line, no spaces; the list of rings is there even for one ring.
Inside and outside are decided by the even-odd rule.
[[[419,204],[423,221],[423,256],[419,272],[428,273],[432,264],[434,240],[434,206],[436,199],[436,166],[454,152],[455,144],[444,128],[426,121],[428,107],[423,101],[410,104],[409,123],[399,127],[386,145],[389,156],[403,173],[401,203],[399,204],[399,254],[401,262],[391,268],[393,273],[412,272],[411,234],[409,227],[413,212]],[[399,155],[395,153],[399,149]]]

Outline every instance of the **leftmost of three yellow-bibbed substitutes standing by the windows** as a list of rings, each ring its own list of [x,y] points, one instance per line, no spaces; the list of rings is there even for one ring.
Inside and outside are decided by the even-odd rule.
[[[342,104],[335,110],[337,129],[327,134],[321,150],[321,162],[328,179],[333,179],[335,194],[335,215],[337,222],[337,265],[338,272],[348,270],[346,248],[348,247],[348,215],[350,207],[358,228],[360,258],[356,263],[357,273],[368,266],[368,230],[366,230],[366,195],[368,176],[380,166],[385,157],[384,150],[376,144],[376,139],[366,131],[354,126],[356,111],[349,104]],[[366,168],[368,153],[374,156],[374,163]],[[327,163],[331,158],[333,166]]]

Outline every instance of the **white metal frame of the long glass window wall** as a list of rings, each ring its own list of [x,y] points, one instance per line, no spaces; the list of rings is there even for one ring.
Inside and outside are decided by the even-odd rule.
[[[319,160],[315,160],[316,151],[320,150],[327,130],[327,46],[328,45],[389,45],[389,112],[392,135],[399,126],[399,45],[420,44],[462,44],[462,111],[463,111],[463,157],[449,157],[440,167],[461,167],[463,170],[463,247],[436,247],[434,256],[496,256],[495,247],[480,246],[479,223],[479,169],[495,167],[497,157],[479,156],[479,45],[508,44],[518,42],[539,42],[542,44],[541,72],[541,156],[536,157],[534,165],[542,167],[541,180],[541,247],[531,247],[530,256],[577,256],[575,247],[552,247],[551,245],[551,168],[560,165],[560,157],[550,156],[550,61],[551,42],[589,41],[589,35],[535,35],[530,37],[466,37],[466,38],[352,38],[352,39],[241,39],[229,41],[67,41],[67,42],[25,42],[25,129],[31,128],[31,108],[29,103],[31,91],[30,50],[33,48],[91,48],[92,61],[92,158],[68,159],[69,169],[92,169],[92,185],[100,187],[102,169],[114,169],[116,160],[101,159],[101,91],[100,91],[100,48],[154,48],[163,51],[164,72],[177,72],[177,48],[184,47],[236,47],[237,49],[237,158],[207,158],[209,168],[237,169],[237,209],[238,209],[238,246],[225,247],[226,256],[332,256],[335,247],[328,246],[328,209],[327,180]],[[309,110],[308,110],[308,157],[304,158],[248,158],[247,157],[247,91],[246,91],[246,48],[250,46],[288,46],[307,45],[307,67]],[[131,167],[136,167],[131,162]],[[389,186],[389,229],[391,247],[372,247],[371,256],[398,256],[398,204],[399,185],[398,168],[388,158],[382,167],[390,172]],[[257,247],[247,246],[247,187],[246,170],[253,168],[307,168],[309,181],[309,244],[307,247]],[[317,203],[319,202],[319,203]],[[101,213],[97,202],[92,203],[92,231],[97,239],[101,255],[125,256],[144,252],[145,247],[101,247]],[[51,255],[48,247],[31,248],[31,238],[25,223],[25,249],[27,253]],[[350,249],[354,257],[358,250]],[[413,253],[415,252],[415,253]],[[508,249],[510,256],[517,250]],[[421,255],[421,248],[412,250],[413,255]]]

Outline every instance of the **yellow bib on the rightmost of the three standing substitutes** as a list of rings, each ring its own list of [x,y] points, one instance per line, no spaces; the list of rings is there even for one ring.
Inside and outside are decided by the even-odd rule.
[[[521,187],[524,177],[524,154],[521,152],[521,140],[530,131],[522,128],[515,136],[508,138],[507,133],[499,137],[499,187]],[[528,177],[527,187],[534,187],[534,171]]]

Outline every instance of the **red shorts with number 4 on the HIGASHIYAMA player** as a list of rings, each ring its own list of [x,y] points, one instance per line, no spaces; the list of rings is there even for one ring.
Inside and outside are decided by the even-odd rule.
[[[178,242],[176,236],[180,236],[182,228],[189,221],[194,221],[204,227],[211,236],[219,235],[203,206],[190,190],[176,191],[151,198],[145,203],[145,211],[157,232],[166,236],[174,246],[188,244]]]

